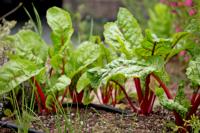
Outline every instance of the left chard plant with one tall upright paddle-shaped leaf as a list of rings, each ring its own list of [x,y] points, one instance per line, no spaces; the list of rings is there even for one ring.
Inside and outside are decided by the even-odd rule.
[[[47,45],[36,32],[20,30],[7,38],[14,52],[0,68],[0,94],[30,81],[40,112],[56,111],[55,100],[62,104],[67,92],[73,102],[82,102],[85,93],[77,91],[77,81],[100,55],[100,47],[92,41],[77,48],[72,46],[73,27],[68,12],[58,7],[48,9],[47,23],[52,29],[52,45]]]

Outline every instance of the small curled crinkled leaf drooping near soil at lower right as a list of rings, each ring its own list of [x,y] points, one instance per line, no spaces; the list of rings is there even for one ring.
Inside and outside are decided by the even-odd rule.
[[[185,114],[188,112],[188,108],[184,107],[179,102],[174,101],[172,99],[167,99],[164,96],[164,90],[162,88],[157,88],[156,89],[156,96],[158,96],[159,102],[164,108],[166,108],[166,109],[168,109],[170,111],[176,111],[182,117],[184,117]]]

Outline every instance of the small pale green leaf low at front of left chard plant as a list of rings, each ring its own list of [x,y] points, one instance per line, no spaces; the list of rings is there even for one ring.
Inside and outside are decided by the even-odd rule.
[[[71,79],[66,77],[65,75],[62,75],[57,79],[57,82],[49,89],[47,90],[48,93],[50,92],[60,92],[66,89],[68,85],[70,85]]]

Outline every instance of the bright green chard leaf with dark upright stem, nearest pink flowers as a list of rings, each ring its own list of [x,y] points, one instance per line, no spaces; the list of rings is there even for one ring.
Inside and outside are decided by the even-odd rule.
[[[135,49],[139,57],[147,58],[153,55],[161,56],[165,60],[179,53],[181,50],[187,49],[185,42],[180,41],[188,35],[187,32],[179,32],[172,38],[158,38],[152,34],[150,30],[146,30],[145,38],[141,45]]]

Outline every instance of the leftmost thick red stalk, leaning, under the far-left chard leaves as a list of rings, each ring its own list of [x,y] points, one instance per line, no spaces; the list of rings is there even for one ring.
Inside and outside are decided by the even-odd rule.
[[[40,87],[40,84],[35,80],[35,77],[32,77],[31,78],[33,83],[35,84],[36,88],[37,88],[37,92],[40,96],[40,99],[41,99],[41,102],[42,102],[42,106],[46,109],[46,105],[45,105],[45,102],[46,102],[46,97],[42,91],[42,88]]]

